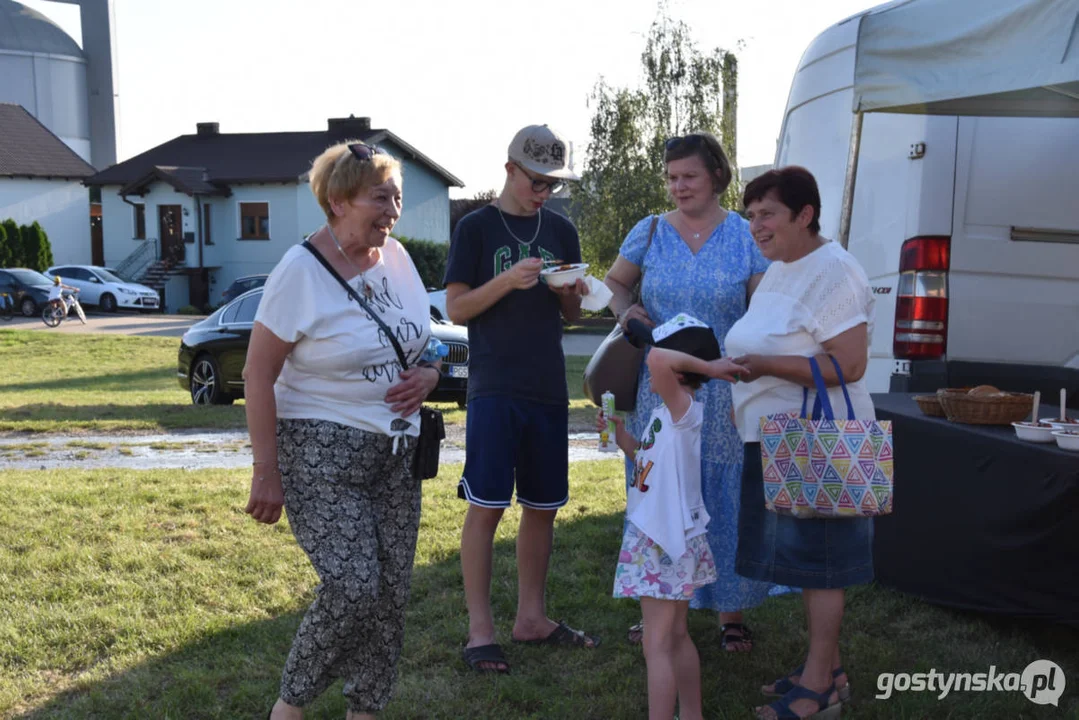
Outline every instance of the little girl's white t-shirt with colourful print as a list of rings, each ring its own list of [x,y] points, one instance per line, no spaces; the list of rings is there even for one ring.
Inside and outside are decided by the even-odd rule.
[[[700,426],[705,406],[694,399],[678,422],[660,405],[641,435],[626,518],[672,560],[686,541],[702,534],[711,519],[700,494]]]

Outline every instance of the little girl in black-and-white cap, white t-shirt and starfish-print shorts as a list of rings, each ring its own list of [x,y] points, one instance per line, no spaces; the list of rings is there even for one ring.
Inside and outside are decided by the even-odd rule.
[[[615,423],[615,441],[636,471],[626,499],[626,530],[614,596],[640,598],[648,670],[648,719],[700,720],[700,658],[686,616],[696,588],[714,583],[715,561],[705,535],[700,494],[704,405],[694,392],[715,378],[733,381],[743,368],[720,358],[712,330],[680,314],[648,330],[630,321],[630,341],[654,345],[647,355],[652,392],[663,398],[640,441]],[[598,424],[605,425],[602,413]]]

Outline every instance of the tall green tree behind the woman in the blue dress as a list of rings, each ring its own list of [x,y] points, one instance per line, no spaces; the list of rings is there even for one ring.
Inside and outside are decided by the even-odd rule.
[[[741,196],[736,165],[738,60],[722,49],[702,53],[666,1],[652,24],[644,52],[643,89],[611,87],[601,78],[595,103],[588,158],[574,191],[582,253],[596,276],[618,256],[626,234],[645,216],[670,208],[664,184],[664,144],[693,132],[715,135],[734,179],[724,207]]]

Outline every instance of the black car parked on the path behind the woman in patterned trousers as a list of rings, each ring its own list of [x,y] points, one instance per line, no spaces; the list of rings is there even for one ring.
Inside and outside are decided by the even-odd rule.
[[[248,290],[183,334],[176,376],[195,405],[230,405],[244,396],[247,343],[262,289]],[[450,353],[442,358],[442,377],[428,399],[463,406],[468,391],[468,331],[432,317],[431,332],[449,345]]]

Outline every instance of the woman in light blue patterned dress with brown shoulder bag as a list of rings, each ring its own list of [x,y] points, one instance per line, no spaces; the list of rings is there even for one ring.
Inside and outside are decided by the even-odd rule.
[[[715,137],[707,133],[673,137],[667,140],[664,162],[675,209],[642,219],[626,235],[604,279],[614,294],[610,307],[623,327],[632,318],[654,327],[680,312],[688,313],[713,328],[723,348],[727,329],[745,314],[768,261],[753,242],[747,221],[720,204],[732,172]],[[639,280],[641,300],[634,303],[632,288]],[[752,636],[742,610],[786,588],[735,573],[742,445],[732,420],[730,385],[707,383],[697,399],[705,403],[701,490],[712,518],[708,540],[719,580],[698,589],[689,607],[719,612],[724,649],[748,651]],[[626,418],[626,429],[640,437],[642,424],[660,402],[648,390],[648,369],[642,363],[637,406]],[[627,460],[627,484],[632,475]],[[631,627],[630,642],[640,642],[641,635],[641,625]]]

